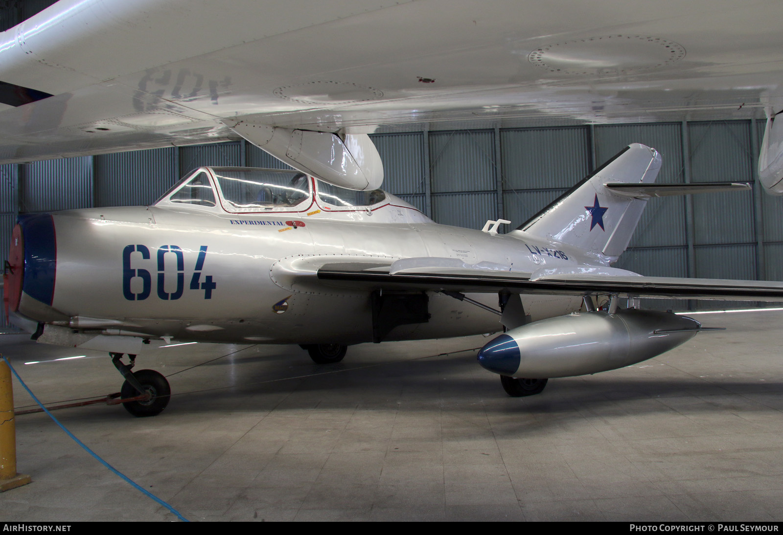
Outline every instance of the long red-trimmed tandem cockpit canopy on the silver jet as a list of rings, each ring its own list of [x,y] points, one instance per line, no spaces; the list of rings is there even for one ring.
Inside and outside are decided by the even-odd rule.
[[[300,212],[313,203],[327,210],[368,210],[386,199],[381,189],[356,191],[317,181],[299,171],[254,167],[201,167],[188,174],[158,206],[222,208],[229,214]]]

